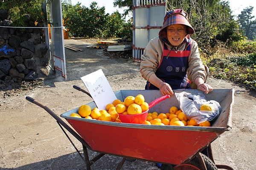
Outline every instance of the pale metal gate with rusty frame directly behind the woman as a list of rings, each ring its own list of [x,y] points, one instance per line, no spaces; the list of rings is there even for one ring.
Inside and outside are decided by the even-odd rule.
[[[158,36],[166,0],[133,0],[133,60],[141,61],[148,41]]]

